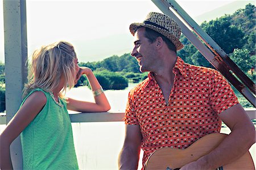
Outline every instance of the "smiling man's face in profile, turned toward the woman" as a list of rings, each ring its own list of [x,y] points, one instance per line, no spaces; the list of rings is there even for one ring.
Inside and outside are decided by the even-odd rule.
[[[155,43],[150,43],[144,36],[145,28],[139,28],[134,34],[134,48],[131,56],[135,57],[141,72],[153,71],[154,61],[157,59]]]

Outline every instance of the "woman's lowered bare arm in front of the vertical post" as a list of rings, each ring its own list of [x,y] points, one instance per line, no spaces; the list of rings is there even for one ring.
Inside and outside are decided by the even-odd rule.
[[[0,134],[0,169],[13,169],[10,144],[38,115],[44,105],[46,105],[46,101],[47,99],[43,92],[32,93]]]

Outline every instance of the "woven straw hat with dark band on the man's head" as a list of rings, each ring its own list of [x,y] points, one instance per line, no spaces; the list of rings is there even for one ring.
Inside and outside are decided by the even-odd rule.
[[[183,48],[183,44],[180,42],[181,28],[167,15],[161,13],[151,12],[147,15],[146,19],[142,23],[132,23],[130,24],[131,34],[135,34],[135,30],[138,27],[147,27],[160,34],[166,36],[170,39],[171,42],[176,46],[176,49],[179,50]]]

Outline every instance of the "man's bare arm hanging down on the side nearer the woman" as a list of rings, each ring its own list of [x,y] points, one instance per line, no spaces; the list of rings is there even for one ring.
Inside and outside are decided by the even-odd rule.
[[[119,169],[137,169],[141,151],[141,130],[139,125],[126,125],[125,142],[118,157]]]

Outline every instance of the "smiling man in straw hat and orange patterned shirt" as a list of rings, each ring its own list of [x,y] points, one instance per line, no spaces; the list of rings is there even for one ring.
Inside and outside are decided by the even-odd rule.
[[[129,93],[126,136],[119,169],[137,169],[142,148],[148,156],[163,147],[187,148],[204,135],[220,132],[223,121],[232,132],[208,155],[181,167],[214,169],[245,154],[255,142],[255,128],[230,88],[213,69],[184,63],[181,29],[169,16],[149,13],[143,23],[130,25],[131,55],[148,78]]]

